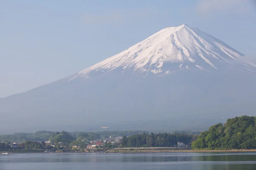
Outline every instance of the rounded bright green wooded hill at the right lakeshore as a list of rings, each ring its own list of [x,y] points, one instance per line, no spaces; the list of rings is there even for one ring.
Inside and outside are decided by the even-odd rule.
[[[256,117],[241,116],[227,119],[202,132],[193,148],[210,150],[256,149]]]

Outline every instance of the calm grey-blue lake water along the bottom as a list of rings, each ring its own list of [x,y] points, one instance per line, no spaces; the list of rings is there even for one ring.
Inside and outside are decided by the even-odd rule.
[[[256,153],[10,154],[0,170],[256,170]]]

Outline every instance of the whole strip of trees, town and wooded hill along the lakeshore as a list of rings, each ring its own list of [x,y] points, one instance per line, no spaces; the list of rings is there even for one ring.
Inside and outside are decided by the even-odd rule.
[[[209,130],[201,132],[180,131],[174,133],[148,133],[145,131],[102,131],[102,132],[51,132],[15,133],[0,136],[0,151],[89,151],[124,148],[120,152],[131,152],[131,149],[144,152],[146,148],[166,149],[177,147],[177,142],[192,146],[194,151],[209,150],[253,150],[256,149],[256,117],[241,116],[227,119],[227,122],[216,124]],[[2,142],[1,142],[2,141]],[[17,142],[17,143],[16,143]],[[16,143],[16,147],[15,146]],[[98,144],[96,144],[98,143]],[[99,144],[100,143],[100,144]],[[74,147],[75,146],[75,147]],[[183,145],[184,146],[184,145]],[[129,150],[125,151],[125,148]],[[181,148],[180,148],[181,149]],[[188,148],[183,148],[188,149]],[[168,151],[167,150],[167,151]],[[176,149],[177,150],[177,149]],[[114,151],[116,152],[116,150]],[[134,152],[134,150],[133,150]]]

